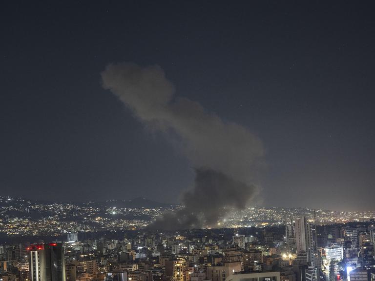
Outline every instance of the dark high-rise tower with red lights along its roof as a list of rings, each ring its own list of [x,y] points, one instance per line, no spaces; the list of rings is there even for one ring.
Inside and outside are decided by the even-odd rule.
[[[62,244],[34,244],[27,251],[30,281],[65,281]]]

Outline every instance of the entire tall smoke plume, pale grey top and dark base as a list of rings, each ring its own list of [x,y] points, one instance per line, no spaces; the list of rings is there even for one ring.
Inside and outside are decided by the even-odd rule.
[[[110,64],[103,87],[152,130],[177,144],[196,171],[194,189],[184,194],[185,208],[152,227],[182,229],[214,226],[224,207],[242,209],[256,193],[253,182],[261,141],[247,128],[221,120],[198,102],[174,97],[174,86],[159,66]]]

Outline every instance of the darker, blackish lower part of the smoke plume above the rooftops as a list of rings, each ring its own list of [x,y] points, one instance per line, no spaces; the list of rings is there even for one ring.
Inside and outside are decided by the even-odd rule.
[[[148,229],[176,230],[205,228],[217,225],[230,206],[244,209],[254,193],[254,186],[247,185],[227,175],[196,169],[194,189],[184,194],[185,208],[159,218]]]

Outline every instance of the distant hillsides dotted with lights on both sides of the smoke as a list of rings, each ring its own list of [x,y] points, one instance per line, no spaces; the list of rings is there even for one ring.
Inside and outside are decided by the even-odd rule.
[[[142,198],[130,201],[52,203],[0,197],[0,234],[10,237],[62,236],[68,232],[142,230],[164,213],[182,209]],[[317,225],[375,221],[375,211],[350,212],[253,206],[231,210],[214,228],[282,226],[304,216]]]

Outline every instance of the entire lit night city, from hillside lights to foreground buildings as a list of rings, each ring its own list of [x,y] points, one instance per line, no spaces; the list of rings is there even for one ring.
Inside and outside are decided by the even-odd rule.
[[[254,206],[233,211],[216,228],[154,231],[147,225],[184,206],[142,198],[0,202],[2,280],[34,273],[76,281],[373,278],[373,212]],[[56,266],[52,273],[48,262]]]

